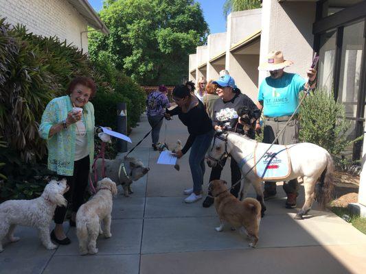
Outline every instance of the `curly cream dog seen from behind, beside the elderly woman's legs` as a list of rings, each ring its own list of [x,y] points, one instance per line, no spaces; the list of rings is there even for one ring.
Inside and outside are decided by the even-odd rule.
[[[103,233],[104,237],[111,238],[113,195],[117,195],[115,182],[104,178],[97,184],[97,193],[80,206],[76,213],[76,235],[80,254],[98,253],[96,245],[99,234]],[[103,229],[101,223],[104,225]]]

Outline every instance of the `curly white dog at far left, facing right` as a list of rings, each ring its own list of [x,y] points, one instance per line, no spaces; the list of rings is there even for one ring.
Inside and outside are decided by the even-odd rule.
[[[63,194],[69,190],[66,179],[57,182],[52,180],[47,184],[41,197],[32,200],[9,200],[0,204],[0,252],[3,251],[1,241],[8,238],[16,242],[14,237],[16,225],[36,227],[42,244],[47,249],[56,249],[57,245],[51,242],[49,224],[52,221],[56,206],[66,206],[67,201]]]

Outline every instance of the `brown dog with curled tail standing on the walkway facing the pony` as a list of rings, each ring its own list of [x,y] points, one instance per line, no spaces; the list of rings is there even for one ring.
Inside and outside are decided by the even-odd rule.
[[[220,218],[220,227],[216,227],[216,231],[221,232],[226,221],[235,229],[244,229],[251,239],[249,247],[255,247],[259,239],[260,202],[253,198],[239,201],[229,192],[226,184],[220,179],[209,183],[209,191],[215,199],[216,212]]]

